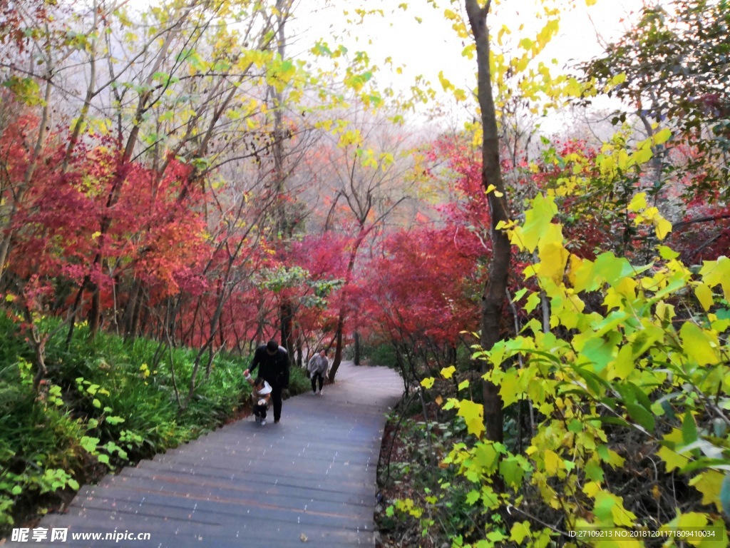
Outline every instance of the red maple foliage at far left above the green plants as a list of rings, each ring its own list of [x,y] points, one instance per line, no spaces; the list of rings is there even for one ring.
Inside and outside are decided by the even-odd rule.
[[[47,152],[18,203],[12,271],[24,278],[61,274],[77,285],[88,277],[106,291],[115,279],[135,278],[157,298],[199,292],[191,270],[201,257],[204,221],[195,213],[202,197],[191,188],[190,168],[172,161],[159,175],[99,146],[77,154],[64,172],[63,154]]]

